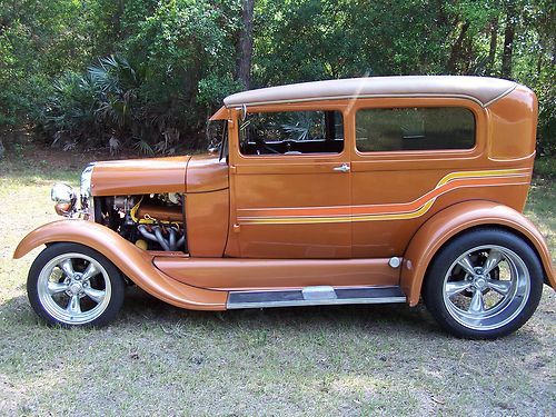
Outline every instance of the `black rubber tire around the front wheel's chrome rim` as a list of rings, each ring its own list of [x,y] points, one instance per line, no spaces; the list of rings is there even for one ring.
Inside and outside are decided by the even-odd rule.
[[[86,324],[68,324],[52,317],[42,306],[38,292],[38,279],[44,266],[54,257],[63,254],[81,254],[96,259],[107,271],[111,285],[110,301],[107,308],[93,320]],[[27,295],[37,315],[50,326],[60,327],[102,327],[113,320],[120,310],[126,292],[126,286],[119,269],[102,254],[79,244],[51,244],[34,259],[27,278]]]

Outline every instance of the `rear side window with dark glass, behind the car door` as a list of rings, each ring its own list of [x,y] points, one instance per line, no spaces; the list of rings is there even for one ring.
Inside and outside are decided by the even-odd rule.
[[[470,149],[475,117],[461,107],[361,109],[356,146],[363,152]]]

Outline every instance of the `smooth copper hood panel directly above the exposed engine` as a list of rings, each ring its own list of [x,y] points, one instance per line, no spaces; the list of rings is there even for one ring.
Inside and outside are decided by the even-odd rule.
[[[189,156],[96,162],[93,196],[185,192]]]

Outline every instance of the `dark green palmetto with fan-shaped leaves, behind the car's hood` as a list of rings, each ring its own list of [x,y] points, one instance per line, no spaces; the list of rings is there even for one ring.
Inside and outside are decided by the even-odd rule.
[[[54,143],[70,149],[77,142],[108,147],[111,152],[132,147],[142,153],[172,153],[180,138],[176,120],[141,93],[145,70],[117,56],[102,58],[85,75],[68,73],[54,85],[43,125]]]

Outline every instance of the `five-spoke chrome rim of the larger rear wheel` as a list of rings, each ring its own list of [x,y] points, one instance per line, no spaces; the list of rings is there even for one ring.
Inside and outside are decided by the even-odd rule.
[[[514,320],[527,305],[530,277],[513,250],[484,245],[459,256],[444,277],[448,314],[474,330],[493,330]]]

